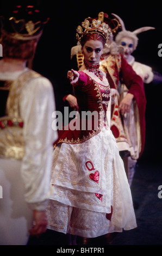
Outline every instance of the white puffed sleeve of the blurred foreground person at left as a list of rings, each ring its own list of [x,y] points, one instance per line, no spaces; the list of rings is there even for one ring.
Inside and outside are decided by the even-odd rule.
[[[57,131],[52,129],[53,111],[51,82],[45,77],[34,78],[22,92],[20,112],[26,144],[21,167],[25,199],[36,210],[45,210],[49,198],[53,142],[58,138]]]

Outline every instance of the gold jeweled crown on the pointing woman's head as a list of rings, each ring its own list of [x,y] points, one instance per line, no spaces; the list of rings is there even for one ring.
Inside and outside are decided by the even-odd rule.
[[[107,41],[109,39],[109,35],[111,34],[111,29],[105,22],[88,17],[82,22],[82,26],[77,27],[76,38],[78,41],[80,41],[85,34],[89,33],[100,34]]]

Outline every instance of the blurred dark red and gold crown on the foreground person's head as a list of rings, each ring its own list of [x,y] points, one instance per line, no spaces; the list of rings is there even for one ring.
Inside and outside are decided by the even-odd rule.
[[[17,40],[37,39],[48,20],[33,5],[16,5],[10,14],[1,17],[1,33]]]

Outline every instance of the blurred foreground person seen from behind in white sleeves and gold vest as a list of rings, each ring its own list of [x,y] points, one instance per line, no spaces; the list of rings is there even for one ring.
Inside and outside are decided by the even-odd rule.
[[[26,245],[46,231],[50,191],[52,84],[27,68],[47,19],[35,7],[17,5],[2,19],[0,60],[0,245]]]

